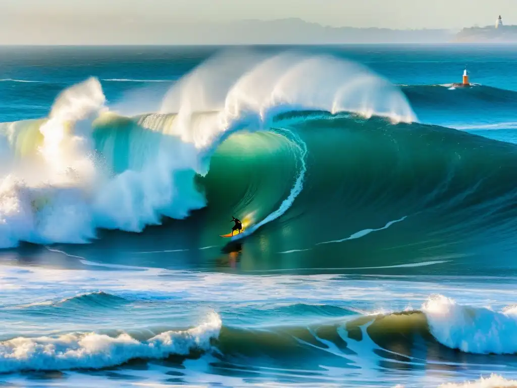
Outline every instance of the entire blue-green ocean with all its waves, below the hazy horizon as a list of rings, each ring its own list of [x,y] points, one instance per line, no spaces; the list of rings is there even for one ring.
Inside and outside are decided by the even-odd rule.
[[[0,386],[517,386],[516,66],[0,47]]]

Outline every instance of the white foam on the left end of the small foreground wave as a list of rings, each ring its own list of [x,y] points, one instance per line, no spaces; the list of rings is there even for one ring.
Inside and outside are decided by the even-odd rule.
[[[0,373],[22,370],[98,369],[133,359],[162,359],[171,354],[208,351],[219,336],[221,318],[212,312],[205,323],[185,331],[167,331],[145,341],[129,334],[96,333],[14,338],[0,342]]]

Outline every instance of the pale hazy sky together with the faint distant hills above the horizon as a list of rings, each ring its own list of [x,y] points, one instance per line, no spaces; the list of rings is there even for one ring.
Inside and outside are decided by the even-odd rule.
[[[0,44],[439,42],[499,14],[517,24],[516,1],[2,0]]]

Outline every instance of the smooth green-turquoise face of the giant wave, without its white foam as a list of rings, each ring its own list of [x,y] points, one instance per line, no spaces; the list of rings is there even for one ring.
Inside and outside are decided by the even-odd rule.
[[[151,128],[142,117],[96,122],[93,140],[103,166],[113,176],[155,174],[160,152],[184,157],[186,149],[178,148],[184,143],[166,135],[174,120],[161,117]],[[27,125],[26,132],[34,132],[35,124]],[[186,219],[163,218],[162,227],[148,228],[138,241],[116,234],[109,244],[155,252],[156,266],[164,265],[171,249],[188,256],[205,247],[222,249],[216,258],[222,265],[238,257],[247,270],[266,272],[422,272],[422,265],[435,263],[439,271],[487,274],[508,266],[514,248],[505,236],[517,228],[517,173],[505,166],[517,161],[515,145],[438,126],[321,111],[285,112],[269,128],[255,130],[241,126],[221,139],[201,159],[206,173],[186,167],[166,177],[174,181],[180,205],[202,203],[201,210]],[[22,135],[26,144],[29,136]],[[245,248],[242,238],[219,237],[231,231],[233,216],[250,232]],[[153,248],[157,238],[163,257]],[[505,253],[481,264],[494,249]],[[202,262],[214,260],[213,252],[199,252]]]

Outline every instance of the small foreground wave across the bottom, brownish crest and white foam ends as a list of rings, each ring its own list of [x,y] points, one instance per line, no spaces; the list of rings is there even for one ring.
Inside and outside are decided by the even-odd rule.
[[[89,308],[96,308],[89,306]],[[419,310],[359,315],[332,305],[275,307],[271,314],[314,314],[304,324],[263,327],[225,326],[215,313],[188,330],[158,334],[67,333],[18,337],[0,342],[0,372],[102,369],[131,360],[197,358],[209,353],[226,367],[297,368],[318,374],[317,365],[340,368],[432,368],[487,363],[483,354],[513,354],[517,334],[515,308],[493,311],[462,306],[441,295]],[[508,340],[510,339],[510,340]],[[456,349],[461,352],[455,351]],[[317,360],[317,365],[312,361]],[[493,362],[493,359],[491,359]]]

